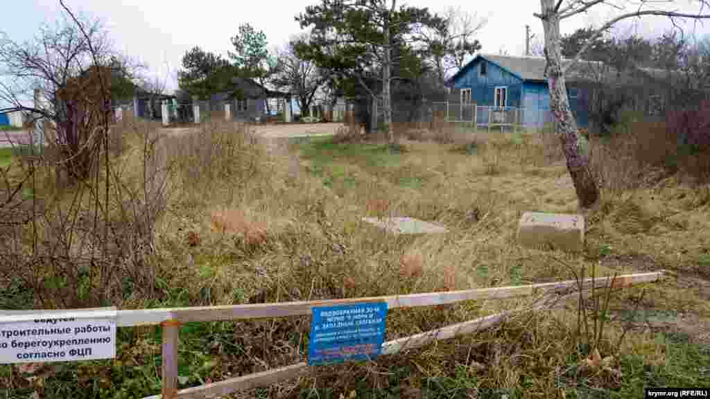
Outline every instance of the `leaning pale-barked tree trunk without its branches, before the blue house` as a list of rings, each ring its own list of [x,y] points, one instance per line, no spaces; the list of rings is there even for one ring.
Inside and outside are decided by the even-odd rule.
[[[542,5],[542,27],[545,29],[545,58],[547,59],[547,86],[550,89],[550,111],[555,119],[555,133],[562,143],[562,151],[567,159],[567,170],[572,176],[574,190],[581,208],[589,208],[599,200],[599,188],[589,170],[584,138],[577,129],[577,121],[567,100],[567,87],[562,68],[560,48],[559,15],[555,11],[555,0],[540,0]]]

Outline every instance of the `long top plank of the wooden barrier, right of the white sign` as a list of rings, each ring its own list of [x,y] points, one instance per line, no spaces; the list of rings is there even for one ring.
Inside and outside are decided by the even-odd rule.
[[[663,272],[640,273],[617,277],[615,286],[620,284],[650,283],[659,280]],[[594,284],[605,287],[611,277],[596,278]],[[584,285],[591,284],[591,278]],[[549,290],[565,290],[577,286],[577,281],[567,280],[557,283],[518,285],[513,287],[479,288],[474,290],[449,291],[447,293],[422,293],[392,295],[384,297],[346,298],[338,300],[315,300],[304,302],[258,303],[249,305],[225,305],[212,307],[182,307],[172,309],[119,310],[116,325],[128,327],[144,324],[160,324],[170,317],[178,322],[212,322],[231,319],[260,319],[266,317],[286,317],[310,315],[312,307],[346,305],[366,302],[387,302],[389,309],[397,307],[422,307],[447,305],[464,300],[492,300],[537,295]]]

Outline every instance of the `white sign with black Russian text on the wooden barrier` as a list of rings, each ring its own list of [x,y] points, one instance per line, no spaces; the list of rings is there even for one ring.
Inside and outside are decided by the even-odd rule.
[[[0,312],[0,364],[116,357],[116,309]]]

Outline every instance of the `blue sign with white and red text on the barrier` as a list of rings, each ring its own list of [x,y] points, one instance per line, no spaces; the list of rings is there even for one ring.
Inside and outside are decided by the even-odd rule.
[[[387,302],[314,307],[308,365],[376,358],[385,337]]]

